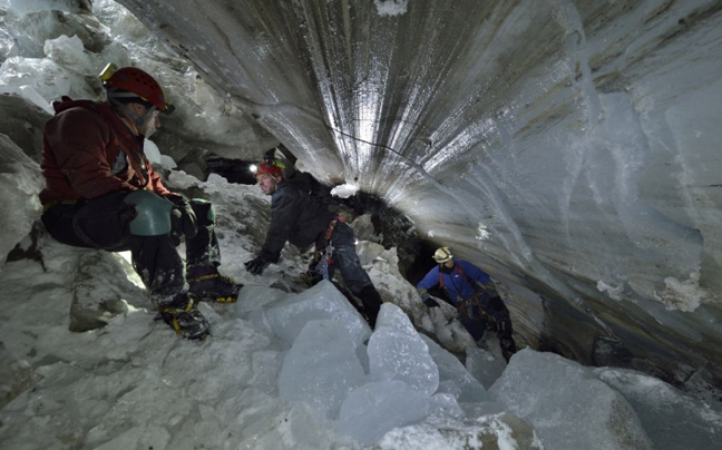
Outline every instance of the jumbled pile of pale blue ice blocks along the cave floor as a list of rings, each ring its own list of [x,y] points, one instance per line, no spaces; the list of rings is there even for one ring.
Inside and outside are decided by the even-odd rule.
[[[595,371],[529,349],[506,370],[489,352],[468,349],[469,371],[420,335],[392,303],[383,305],[371,333],[326,282],[263,309],[266,324],[291,345],[279,376],[281,398],[312,405],[362,444],[475,448],[494,442],[565,450],[594,442],[598,449],[672,449],[658,438],[661,428],[669,429],[661,427],[666,419],[651,408],[654,397],[641,390],[651,380],[665,393],[664,411],[690,415],[694,405],[702,408],[692,415],[706,430],[695,439],[703,443],[696,448],[713,448],[711,439],[721,436],[720,411],[636,372]],[[489,392],[482,382],[492,383]]]

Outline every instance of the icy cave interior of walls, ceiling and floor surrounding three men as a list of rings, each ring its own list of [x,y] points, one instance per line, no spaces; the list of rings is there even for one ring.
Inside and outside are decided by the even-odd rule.
[[[0,0],[0,448],[722,440],[721,1]],[[176,106],[146,154],[217,204],[223,268],[245,284],[203,305],[217,332],[201,346],[154,326],[120,256],[39,226],[50,105],[103,101],[108,62]],[[243,268],[267,199],[208,155],[244,172],[280,145],[404,224],[354,228],[384,300],[373,333],[331,285],[294,288],[297,250],[263,278]],[[491,275],[524,349],[508,365],[443,334],[403,236]],[[114,316],[69,331],[92,293]]]

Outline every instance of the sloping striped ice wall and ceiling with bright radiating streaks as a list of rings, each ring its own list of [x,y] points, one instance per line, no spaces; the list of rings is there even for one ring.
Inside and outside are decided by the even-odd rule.
[[[722,2],[120,0],[523,342],[722,385]]]

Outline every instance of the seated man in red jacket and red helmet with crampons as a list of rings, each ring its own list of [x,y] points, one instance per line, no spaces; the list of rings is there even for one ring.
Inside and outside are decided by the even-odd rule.
[[[57,241],[109,252],[130,251],[133,266],[163,320],[187,339],[208,322],[198,300],[235,301],[242,285],[222,277],[215,213],[205,200],[169,192],[143,153],[144,139],[174,107],[158,82],[135,67],[108,65],[107,102],[55,101],[45,127],[42,223]],[[186,265],[176,251],[186,237]]]

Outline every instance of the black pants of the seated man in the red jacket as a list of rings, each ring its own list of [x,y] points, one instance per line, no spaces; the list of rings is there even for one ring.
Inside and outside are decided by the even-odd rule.
[[[133,205],[124,203],[129,192],[110,193],[75,204],[58,204],[42,215],[48,233],[62,244],[100,248],[108,252],[130,251],[133,266],[150,292],[150,299],[163,302],[183,290],[184,266],[176,246],[179,231],[162,236],[134,236],[129,223]],[[192,200],[198,233],[186,238],[186,264],[195,276],[214,273],[221,264],[215,223],[209,203]]]

